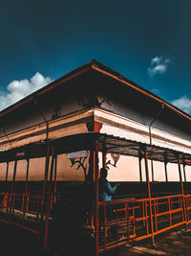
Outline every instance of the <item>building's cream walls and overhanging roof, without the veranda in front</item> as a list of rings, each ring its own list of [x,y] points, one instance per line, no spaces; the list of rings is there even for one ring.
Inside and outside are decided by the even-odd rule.
[[[189,153],[191,151],[191,117],[174,105],[122,77],[96,60],[53,81],[0,113],[0,149],[5,151],[32,142],[62,137],[90,130]],[[108,160],[114,164],[110,155]],[[29,179],[43,180],[44,161],[32,160]],[[62,162],[62,163],[61,163]],[[87,163],[88,164],[88,163]],[[16,180],[25,180],[19,163]],[[63,175],[62,165],[67,166]],[[109,166],[108,166],[109,167]],[[113,181],[138,181],[138,160],[116,168],[110,165]],[[24,168],[25,169],[25,168]],[[165,181],[160,163],[153,163],[151,180]],[[189,170],[189,167],[187,167]],[[152,170],[152,169],[151,169]],[[8,180],[11,180],[13,163]],[[168,168],[169,181],[179,180],[173,164]],[[187,171],[187,181],[191,172]],[[2,164],[1,180],[6,165]],[[145,176],[143,175],[143,180]],[[57,180],[84,180],[82,169],[76,172],[68,159],[60,159]]]

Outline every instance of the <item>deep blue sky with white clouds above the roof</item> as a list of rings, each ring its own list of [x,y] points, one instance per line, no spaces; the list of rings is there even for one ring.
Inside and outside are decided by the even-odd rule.
[[[190,0],[0,0],[0,110],[92,59],[191,114]]]

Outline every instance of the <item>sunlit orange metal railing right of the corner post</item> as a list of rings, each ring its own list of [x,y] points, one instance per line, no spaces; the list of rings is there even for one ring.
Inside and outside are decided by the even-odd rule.
[[[98,207],[99,252],[191,222],[191,195],[99,201]]]

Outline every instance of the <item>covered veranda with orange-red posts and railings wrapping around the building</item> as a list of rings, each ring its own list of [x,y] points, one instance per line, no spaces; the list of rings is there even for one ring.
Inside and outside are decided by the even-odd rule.
[[[69,198],[62,197],[63,195],[61,195],[57,186],[57,155],[78,151],[90,152],[89,175],[86,175],[84,180],[83,193],[78,198],[70,199],[69,202]],[[121,197],[111,202],[98,201],[98,155],[100,155],[98,152],[102,153],[100,162],[103,167],[106,164],[106,153],[137,157],[140,188],[142,184],[141,162],[144,161],[147,193],[145,194],[143,190],[140,190],[136,197]],[[32,194],[28,186],[30,160],[45,156],[44,181],[41,190]],[[149,159],[164,163],[163,172],[165,173],[166,184],[168,184],[167,163],[177,163],[180,175],[179,193],[172,194],[169,191],[165,191],[165,193],[162,192],[160,195],[155,195],[151,192],[148,170]],[[14,190],[17,163],[20,160],[27,161],[25,188],[22,193]],[[11,161],[14,161],[14,168],[11,187],[8,188],[8,172]],[[53,219],[56,218],[53,209],[60,203],[64,208],[70,207],[71,204],[76,204],[77,207],[83,208],[84,218],[80,219],[82,220],[81,226],[83,228],[81,228],[80,232],[78,232],[79,230],[77,231],[77,236],[84,236],[85,233],[88,233],[89,239],[93,242],[92,246],[96,255],[121,244],[146,238],[151,238],[152,243],[155,244],[155,236],[159,233],[180,225],[184,225],[187,228],[190,223],[191,195],[188,191],[184,191],[184,183],[186,181],[185,166],[191,165],[191,154],[188,153],[160,148],[99,132],[86,132],[32,143],[9,151],[1,151],[0,162],[7,163],[5,189],[0,194],[0,221],[12,223],[35,233],[39,238],[39,244],[44,247],[51,244]],[[80,159],[79,162],[81,163]],[[181,173],[184,175],[184,182],[182,182]],[[114,218],[110,221],[107,220],[106,214],[109,206],[112,206],[114,211]],[[103,213],[103,219],[100,219],[100,212]],[[69,221],[76,222],[73,218]],[[115,237],[112,235],[114,227],[117,230]],[[82,229],[83,232],[81,232]],[[75,232],[74,229],[73,232]],[[84,236],[85,238],[87,238],[86,235]]]

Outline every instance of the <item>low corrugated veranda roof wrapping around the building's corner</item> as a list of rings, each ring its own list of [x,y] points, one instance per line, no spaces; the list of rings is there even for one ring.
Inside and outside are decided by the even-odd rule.
[[[148,159],[177,163],[179,156],[181,164],[191,165],[191,154],[189,153],[94,131],[67,135],[57,139],[27,144],[19,148],[12,148],[8,151],[0,151],[0,162],[44,157],[47,155],[48,146],[50,148],[54,146],[56,154],[83,150],[94,151],[96,146],[98,151],[136,157],[138,157],[139,153],[144,155],[144,151],[147,151]],[[51,150],[49,153],[51,154]]]

